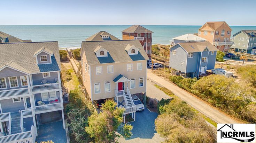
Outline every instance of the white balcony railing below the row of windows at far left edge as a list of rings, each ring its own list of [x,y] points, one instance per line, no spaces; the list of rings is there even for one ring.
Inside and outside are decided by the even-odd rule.
[[[0,91],[0,100],[16,98],[16,97],[20,97],[20,96],[29,95],[29,94],[30,94],[30,91],[28,88],[3,90],[3,91]]]

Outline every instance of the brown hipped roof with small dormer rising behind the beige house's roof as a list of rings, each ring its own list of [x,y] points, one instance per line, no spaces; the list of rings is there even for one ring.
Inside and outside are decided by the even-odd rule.
[[[102,38],[102,35],[109,35],[109,38]],[[91,37],[85,39],[85,41],[109,41],[109,40],[120,40],[117,37],[109,34],[106,31],[100,31],[98,33],[93,34]]]

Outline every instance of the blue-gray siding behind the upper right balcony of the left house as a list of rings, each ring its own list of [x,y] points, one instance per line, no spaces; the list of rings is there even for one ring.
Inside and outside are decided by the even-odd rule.
[[[41,83],[42,80],[46,79],[50,83],[56,83],[55,78],[58,78],[58,73],[57,72],[51,72],[49,78],[43,78],[42,73],[38,74],[32,74],[32,80],[33,80],[33,85],[40,85],[43,84]]]

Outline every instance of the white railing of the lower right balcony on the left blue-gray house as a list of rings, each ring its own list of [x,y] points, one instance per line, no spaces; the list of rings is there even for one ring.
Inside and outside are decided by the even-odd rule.
[[[35,110],[35,114],[41,114],[41,113],[46,113],[46,112],[62,110],[63,109],[62,107],[63,107],[63,104],[61,102],[59,102],[59,103],[54,103],[54,104],[36,106],[34,108],[34,110]]]

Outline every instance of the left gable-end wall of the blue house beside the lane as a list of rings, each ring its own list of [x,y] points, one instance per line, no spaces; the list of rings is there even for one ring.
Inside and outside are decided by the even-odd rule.
[[[176,55],[172,55],[172,50],[176,50]],[[187,59],[187,52],[179,44],[171,48],[170,62],[169,62],[169,66],[171,68],[174,68],[182,72],[186,72],[186,66],[187,66],[186,59]],[[181,62],[184,62],[183,66],[181,65]]]

